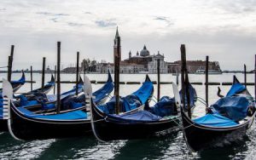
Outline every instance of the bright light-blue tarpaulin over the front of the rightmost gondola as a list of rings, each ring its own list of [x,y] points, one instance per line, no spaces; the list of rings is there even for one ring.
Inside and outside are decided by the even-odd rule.
[[[193,121],[201,125],[212,127],[231,127],[238,124],[230,118],[223,117],[219,114],[207,114],[204,117],[196,118]]]

